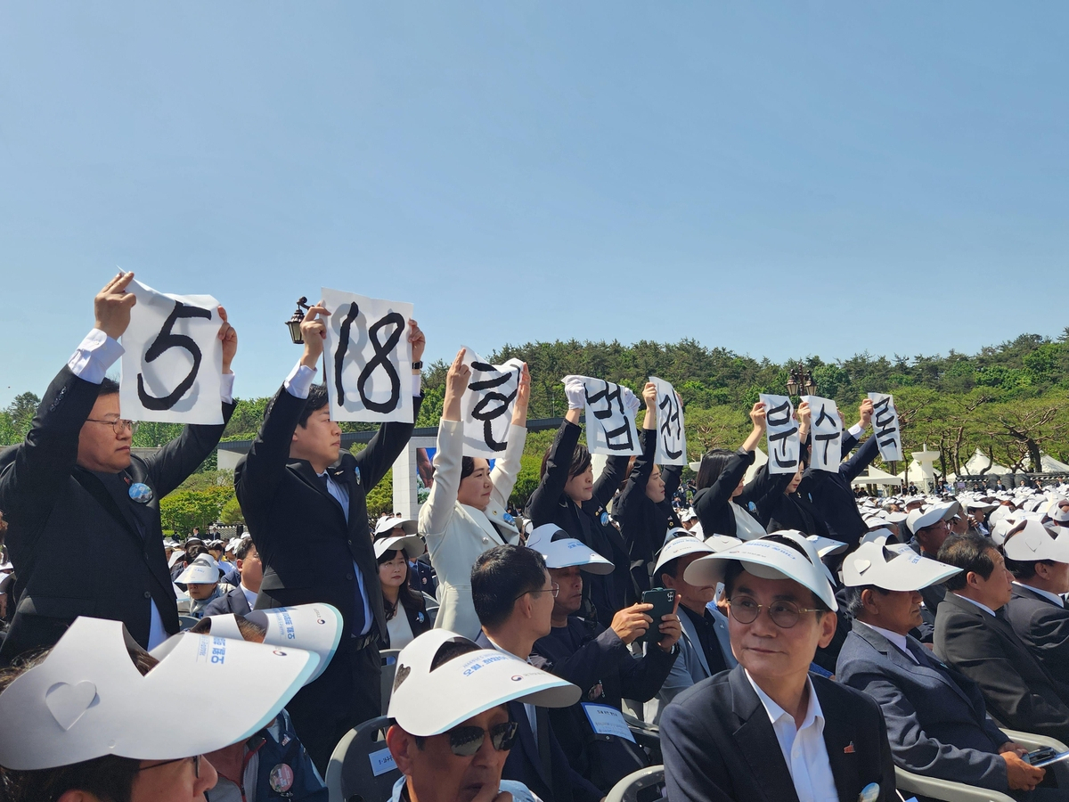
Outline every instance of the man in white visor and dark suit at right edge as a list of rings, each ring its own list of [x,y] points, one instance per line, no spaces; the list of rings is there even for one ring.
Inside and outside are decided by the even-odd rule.
[[[1013,592],[1006,618],[1043,667],[1069,687],[1069,542],[1038,521],[1022,521],[1003,541]]]

